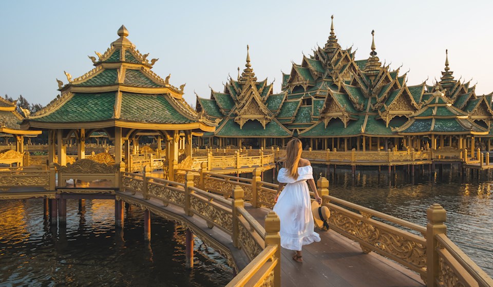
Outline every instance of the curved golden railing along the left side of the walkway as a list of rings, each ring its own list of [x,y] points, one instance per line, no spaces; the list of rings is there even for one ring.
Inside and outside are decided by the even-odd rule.
[[[196,174],[196,173],[195,173]],[[227,286],[280,286],[279,218],[274,212],[262,227],[244,208],[243,189],[232,186],[234,199],[208,193],[194,186],[194,174],[188,172],[185,182],[178,183],[144,174],[122,173],[122,188],[144,199],[158,199],[165,206],[173,204],[188,216],[202,218],[210,228],[217,227],[231,236],[233,245],[242,248],[251,263]]]

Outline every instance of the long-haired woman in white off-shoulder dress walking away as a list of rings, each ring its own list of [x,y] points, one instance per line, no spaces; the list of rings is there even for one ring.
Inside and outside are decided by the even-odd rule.
[[[277,175],[279,186],[277,187],[276,204],[273,208],[280,220],[281,246],[296,251],[293,260],[297,262],[303,262],[301,257],[303,245],[320,241],[318,233],[313,231],[314,224],[307,181],[315,193],[315,200],[318,203],[322,202],[313,180],[312,166],[310,161],[301,158],[301,149],[300,140],[294,138],[288,142],[286,159]]]

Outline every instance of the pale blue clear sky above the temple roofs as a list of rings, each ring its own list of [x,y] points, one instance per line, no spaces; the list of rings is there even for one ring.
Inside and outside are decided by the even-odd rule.
[[[223,91],[229,75],[244,69],[247,45],[258,80],[274,81],[281,71],[323,47],[330,16],[340,46],[357,49],[367,59],[371,30],[382,63],[401,67],[408,85],[440,79],[445,49],[456,79],[472,79],[476,93],[493,91],[492,1],[0,1],[0,95],[23,95],[48,104],[60,92],[55,79],[64,71],[77,78],[93,68],[88,55],[104,53],[118,39],[121,25],[128,39],[170,84],[186,83],[185,100],[194,91],[210,98]],[[461,80],[461,81],[462,81]]]

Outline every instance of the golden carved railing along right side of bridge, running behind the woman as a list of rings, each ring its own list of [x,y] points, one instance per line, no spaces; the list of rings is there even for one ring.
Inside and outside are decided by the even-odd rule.
[[[194,175],[194,180],[199,179],[196,180],[199,188],[209,192],[228,197],[231,193],[225,192],[222,186],[238,185],[250,189],[244,198],[254,207],[274,205],[277,184],[261,181],[259,170],[254,170],[252,179],[205,171]],[[428,286],[456,286],[453,282],[464,286],[493,286],[491,278],[446,237],[445,209],[440,205],[428,208],[425,227],[329,196],[329,182],[325,178],[320,178],[317,186],[323,204],[331,212],[330,228],[358,242],[363,252],[373,251],[406,266],[419,273],[425,282],[434,282]]]

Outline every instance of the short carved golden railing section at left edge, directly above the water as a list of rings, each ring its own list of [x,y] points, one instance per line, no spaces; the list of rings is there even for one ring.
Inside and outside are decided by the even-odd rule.
[[[54,179],[54,174],[52,175]],[[50,171],[46,166],[0,168],[0,188],[50,187]],[[52,190],[52,189],[50,189]]]

